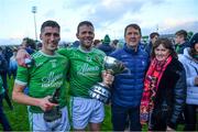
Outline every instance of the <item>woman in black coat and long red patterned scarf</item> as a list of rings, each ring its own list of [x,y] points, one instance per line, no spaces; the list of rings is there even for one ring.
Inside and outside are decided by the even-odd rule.
[[[141,123],[148,131],[174,131],[186,100],[186,74],[168,38],[157,40],[144,80]]]

